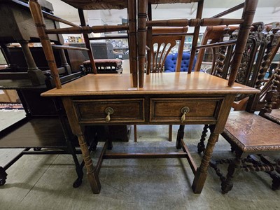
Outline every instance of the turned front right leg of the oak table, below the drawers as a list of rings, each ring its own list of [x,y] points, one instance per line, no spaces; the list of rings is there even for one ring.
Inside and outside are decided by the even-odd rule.
[[[200,167],[197,168],[197,172],[195,173],[195,179],[192,186],[194,193],[201,193],[202,191],[207,178],[207,169],[209,167],[211,156],[214,151],[214,146],[216,144],[216,141],[218,140],[218,135],[219,134],[212,133],[208,139],[208,143],[202,157],[202,162],[200,164]]]

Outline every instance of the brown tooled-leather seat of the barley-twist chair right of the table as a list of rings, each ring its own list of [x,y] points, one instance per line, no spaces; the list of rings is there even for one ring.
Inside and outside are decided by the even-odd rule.
[[[222,135],[243,152],[280,150],[279,125],[254,113],[230,113]]]

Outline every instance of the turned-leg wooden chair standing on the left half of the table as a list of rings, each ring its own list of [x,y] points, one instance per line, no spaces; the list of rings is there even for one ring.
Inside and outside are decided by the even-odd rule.
[[[41,8],[38,4],[36,4],[36,0],[29,1],[29,5],[31,8],[31,13],[33,15],[34,21],[36,22],[36,28],[38,31],[38,34],[41,38],[42,45],[48,45],[48,40],[42,41],[43,37],[51,36],[51,34],[83,34],[83,37],[85,39],[85,47],[86,48],[79,48],[78,50],[87,50],[87,54],[90,58],[90,63],[92,64],[92,71],[93,73],[97,73],[97,68],[94,64],[94,57],[92,55],[92,49],[90,45],[90,40],[94,40],[94,38],[89,38],[88,34],[91,33],[102,33],[102,32],[110,32],[110,31],[128,31],[128,36],[125,36],[123,38],[129,39],[129,45],[130,45],[130,71],[134,75],[133,84],[134,87],[137,87],[137,27],[136,27],[136,0],[132,1],[85,1],[83,3],[80,3],[76,0],[65,0],[64,2],[69,3],[69,5],[75,7],[78,9],[78,15],[80,18],[80,26],[73,25],[73,23],[62,20],[61,18],[57,18],[58,22],[63,22],[66,25],[69,25],[71,27],[63,28],[63,29],[46,29],[46,25],[43,22],[43,19],[41,18]],[[128,12],[128,25],[101,25],[101,26],[86,26],[85,25],[85,17],[83,14],[83,10],[90,9],[90,10],[96,10],[96,9],[123,9],[127,8]],[[106,37],[103,37],[106,39]],[[115,38],[110,36],[110,38]],[[119,38],[119,37],[118,37]],[[101,38],[99,38],[101,39]],[[46,47],[43,47],[44,49],[47,49]],[[73,48],[73,47],[66,47],[63,46],[61,48]],[[75,48],[73,48],[75,49]],[[45,52],[48,56],[52,54],[51,49],[47,50],[48,52]],[[51,58],[51,55],[50,55]],[[49,64],[55,67],[54,59],[50,59]],[[57,78],[57,76],[54,76],[54,78]],[[59,84],[59,82],[56,82]]]

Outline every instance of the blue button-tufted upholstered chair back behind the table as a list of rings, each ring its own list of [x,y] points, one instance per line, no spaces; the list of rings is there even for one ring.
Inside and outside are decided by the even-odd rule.
[[[167,59],[165,59],[165,72],[175,72],[176,71],[177,56],[178,56],[178,53],[167,55]],[[189,62],[190,62],[190,53],[183,52],[180,71],[188,71]],[[196,62],[197,62],[197,58],[195,57],[192,70],[195,69]]]

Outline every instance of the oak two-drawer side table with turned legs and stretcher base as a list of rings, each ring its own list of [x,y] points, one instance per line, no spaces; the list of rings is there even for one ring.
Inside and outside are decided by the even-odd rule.
[[[201,193],[207,178],[207,168],[218,135],[223,132],[236,94],[256,94],[252,87],[235,84],[203,72],[151,73],[146,75],[142,88],[133,87],[131,74],[88,74],[52,89],[43,97],[61,97],[73,134],[76,134],[85,160],[87,176],[93,193],[99,193],[99,170],[104,158],[187,158],[193,170],[194,193]],[[197,167],[179,131],[176,148],[180,153],[106,152],[106,141],[97,166],[92,165],[87,149],[85,125],[187,125],[209,124],[214,129],[208,140],[202,161]],[[180,126],[181,127],[181,126]]]

